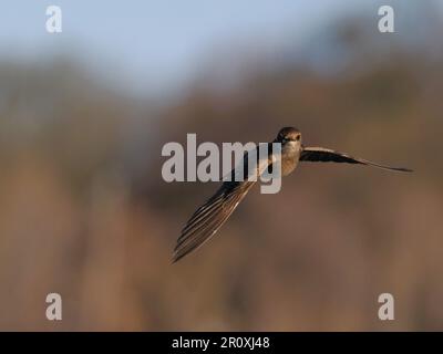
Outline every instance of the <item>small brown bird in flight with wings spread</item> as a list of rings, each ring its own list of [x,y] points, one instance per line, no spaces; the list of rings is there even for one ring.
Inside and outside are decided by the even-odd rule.
[[[272,164],[276,163],[276,153],[272,152],[272,143],[281,144],[279,159],[281,176],[291,174],[297,168],[299,163],[305,162],[347,163],[401,173],[412,171],[412,169],[409,168],[391,167],[363,158],[352,157],[348,154],[330,148],[305,147],[301,143],[301,133],[299,129],[295,127],[284,127],[279,131],[274,142],[268,143],[268,156],[265,156],[265,158],[257,162],[256,168],[258,175],[261,175],[266,168],[271,168]],[[256,153],[257,149],[258,147],[255,149]],[[250,170],[247,167],[247,157],[253,152],[254,150],[246,152],[244,160],[240,162],[240,164],[244,165],[240,166],[240,170],[244,171],[245,178],[243,178],[243,180],[238,180],[239,178],[234,178],[236,173],[239,170],[238,166],[237,168],[234,168],[230,171],[231,178],[225,180],[215,195],[212,196],[205,204],[203,204],[188,219],[176,241],[173,252],[173,263],[177,262],[209,240],[230,217],[239,202],[245,198],[249,189],[257,183],[257,179],[250,180],[247,178],[247,174],[250,174]]]

